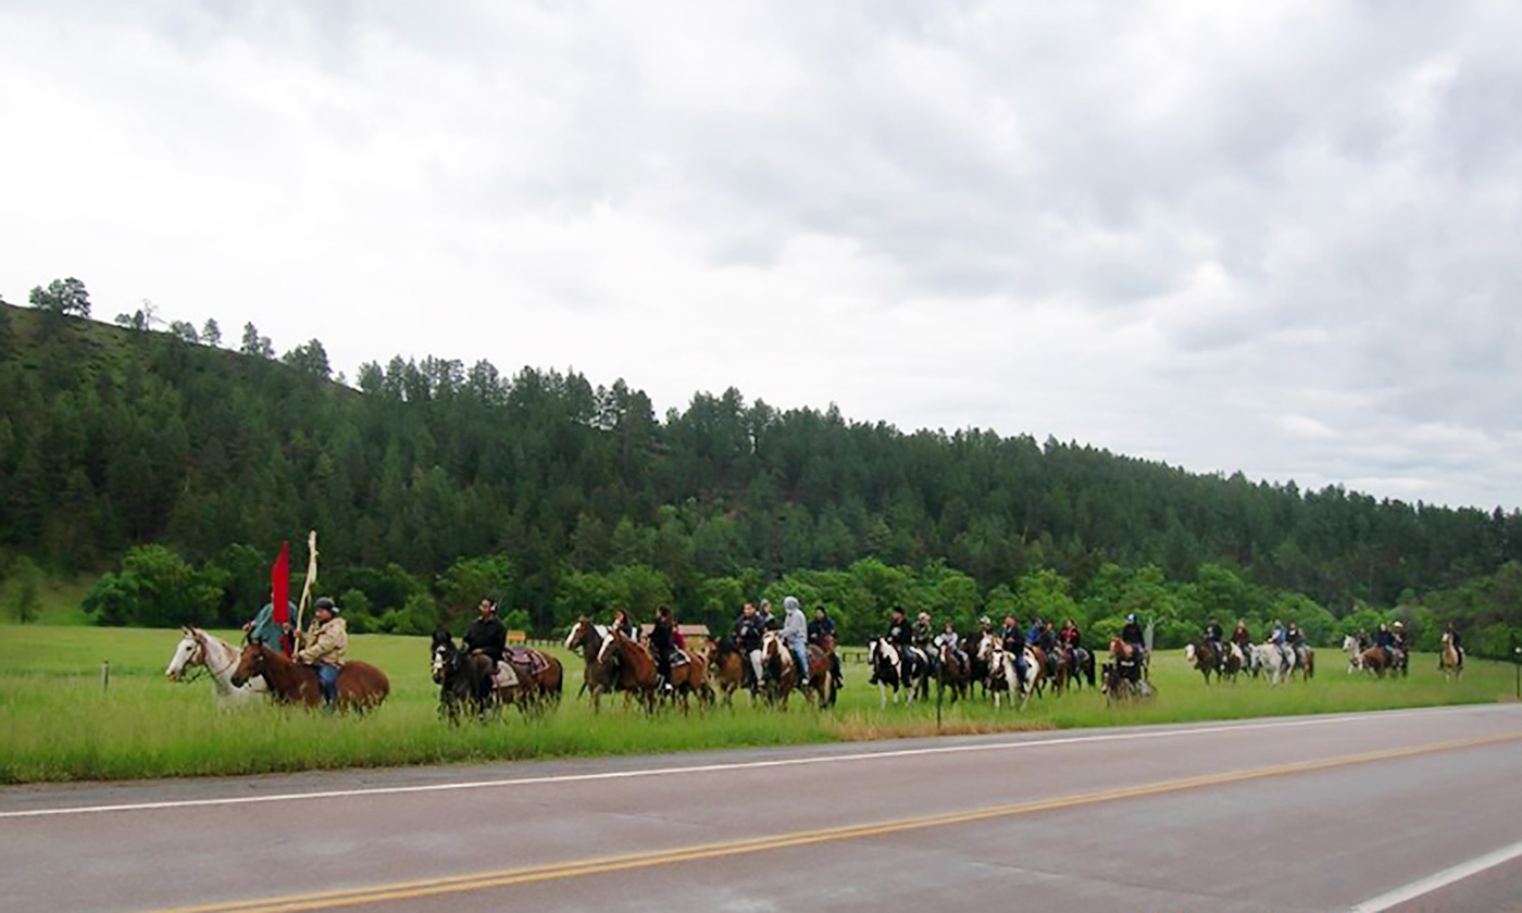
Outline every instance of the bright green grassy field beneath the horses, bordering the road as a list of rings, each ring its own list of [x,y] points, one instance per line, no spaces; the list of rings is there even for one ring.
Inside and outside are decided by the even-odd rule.
[[[224,631],[222,636],[231,639]],[[580,659],[568,657],[565,703],[540,720],[508,711],[489,724],[452,727],[437,717],[422,638],[355,636],[350,654],[384,668],[393,692],[367,718],[329,717],[274,706],[218,708],[205,680],[170,683],[164,665],[178,631],[53,625],[0,627],[0,782],[131,779],[297,771],[341,767],[444,764],[511,758],[682,752],[909,735],[1068,729],[1135,723],[1373,711],[1403,706],[1511,700],[1513,666],[1473,660],[1464,679],[1444,682],[1434,657],[1412,659],[1405,680],[1344,673],[1323,650],[1309,685],[1259,682],[1205,686],[1175,653],[1154,666],[1158,697],[1145,706],[1106,708],[1094,692],[1032,701],[995,712],[982,701],[935,700],[878,709],[866,670],[846,666],[840,705],[820,712],[793,703],[787,712],[749,708],[647,718],[621,701],[594,715],[575,700]],[[110,662],[102,688],[100,665]],[[609,709],[610,708],[610,709]]]

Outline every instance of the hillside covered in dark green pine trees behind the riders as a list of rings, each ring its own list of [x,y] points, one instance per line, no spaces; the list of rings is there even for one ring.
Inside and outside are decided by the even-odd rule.
[[[356,627],[426,630],[487,589],[545,633],[613,603],[718,624],[782,589],[848,635],[889,603],[962,624],[1129,607],[1178,630],[1297,612],[1326,628],[1356,606],[1522,624],[1496,595],[1522,577],[1516,511],[904,434],[735,390],[658,417],[622,380],[487,362],[396,358],[355,390],[315,339],[277,358],[250,324],[233,352],[210,324],[91,321],[68,291],[0,306],[0,551],[111,571],[88,601],[105,622],[231,621],[265,601],[280,542],[300,568],[315,528],[321,589]]]

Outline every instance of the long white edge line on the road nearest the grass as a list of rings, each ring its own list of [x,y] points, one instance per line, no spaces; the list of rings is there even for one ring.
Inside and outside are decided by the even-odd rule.
[[[1482,709],[1495,711],[1496,706]],[[1505,705],[1510,709],[1510,705]],[[61,808],[29,808],[21,811],[0,811],[3,819],[50,817],[68,814],[102,814],[111,811],[161,811],[172,808],[207,808],[222,805],[254,805],[260,802],[306,802],[312,799],[350,799],[356,796],[402,796],[411,793],[447,793],[455,790],[501,790],[507,787],[530,787],[542,784],[574,784],[587,781],[633,779],[645,776],[668,776],[673,773],[724,773],[734,770],[761,770],[767,767],[798,767],[804,764],[845,764],[860,761],[883,761],[892,758],[919,758],[925,755],[956,755],[968,752],[1006,752],[1024,749],[1044,749],[1052,746],[1070,746],[1085,743],[1140,741],[1151,738],[1178,738],[1190,735],[1215,735],[1221,732],[1248,732],[1254,729],[1289,729],[1298,726],[1332,726],[1350,720],[1397,720],[1412,715],[1432,715],[1437,712],[1473,712],[1475,706],[1463,708],[1417,708],[1409,711],[1390,711],[1377,715],[1371,714],[1338,714],[1327,717],[1300,717],[1294,720],[1268,720],[1253,723],[1225,723],[1219,726],[1198,726],[1192,729],[1163,729],[1143,732],[1111,732],[1105,735],[1071,735],[1061,738],[1036,738],[1005,743],[982,743],[976,746],[935,746],[928,749],[895,749],[889,752],[860,752],[851,755],[823,755],[814,758],[775,758],[769,761],[735,761],[728,764],[694,764],[685,767],[656,767],[644,770],[607,770],[601,773],[566,773],[551,776],[525,776],[513,779],[467,781],[458,784],[422,784],[412,787],[365,787],[355,790],[321,790],[309,793],[272,793],[269,796],[222,796],[218,799],[172,799],[163,802],[123,802],[119,805],[78,805]]]

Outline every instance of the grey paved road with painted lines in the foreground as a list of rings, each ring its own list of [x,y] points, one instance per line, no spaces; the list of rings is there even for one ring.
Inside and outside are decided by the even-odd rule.
[[[0,907],[1517,908],[1463,866],[1522,855],[1519,770],[1513,705],[5,788]]]

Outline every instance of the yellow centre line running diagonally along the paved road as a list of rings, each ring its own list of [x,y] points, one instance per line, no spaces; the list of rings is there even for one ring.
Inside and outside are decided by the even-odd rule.
[[[1012,805],[995,805],[971,811],[953,811],[928,814],[919,817],[874,822],[866,825],[848,825],[840,828],[820,828],[816,831],[796,831],[791,834],[775,834],[772,837],[752,837],[746,840],[731,840],[721,843],[706,843],[662,849],[651,852],[636,852],[627,855],[603,857],[592,860],[575,860],[566,863],[549,863],[543,866],[528,866],[521,869],[501,869],[495,872],[475,872],[470,875],[454,875],[446,878],[428,878],[419,881],[402,881],[396,884],[379,884],[373,887],[356,887],[342,890],[324,890],[314,893],[288,895],[283,898],[260,898],[248,901],[227,901],[216,904],[198,904],[192,907],[175,907],[158,913],[301,913],[306,910],[327,910],[333,907],[356,907],[362,904],[382,904],[393,901],[409,901],[416,898],[486,890],[493,887],[508,887],[513,884],[530,884],[536,881],[554,881],[563,878],[581,878],[587,875],[603,875],[629,869],[647,869],[653,866],[671,866],[699,860],[712,860],[741,854],[767,852],[773,849],[788,849],[810,846],[816,843],[834,843],[842,840],[857,840],[863,837],[878,837],[883,834],[898,834],[903,831],[918,831],[924,828],[941,828],[1000,817],[1033,814],[1038,811],[1055,811],[1096,805],[1100,802],[1117,802],[1122,799],[1137,799],[1160,796],[1181,790],[1196,790],[1201,787],[1216,787],[1245,781],[1288,776],[1295,773],[1310,773],[1335,767],[1355,764],[1371,764],[1376,761],[1391,761],[1397,758],[1412,758],[1437,752],[1454,752],[1461,749],[1476,749],[1522,740],[1522,732],[1504,735],[1487,735],[1478,738],[1460,738],[1423,746],[1408,746],[1402,749],[1385,749],[1379,752],[1364,752],[1359,755],[1342,755],[1338,758],[1323,758],[1318,761],[1295,761],[1291,764],[1275,764],[1271,767],[1256,767],[1234,770],[1228,773],[1212,773],[1190,776],[1137,787],[1120,787],[1116,790],[1099,790],[1094,793],[1079,793],[1075,796],[1059,796],[1055,799],[1038,799],[1033,802],[1018,802]]]

